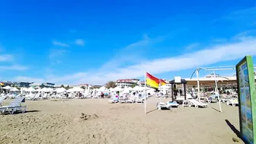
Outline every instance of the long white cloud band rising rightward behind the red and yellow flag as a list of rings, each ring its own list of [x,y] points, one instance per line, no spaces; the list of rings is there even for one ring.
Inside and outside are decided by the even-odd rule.
[[[143,41],[142,43],[148,42]],[[131,46],[138,46],[138,43],[132,44]],[[127,47],[125,48],[125,50],[127,50]],[[46,80],[43,80],[51,80],[50,82],[65,84],[91,83],[94,85],[99,85],[104,84],[105,82],[110,80],[115,81],[118,78],[142,77],[145,70],[152,74],[161,74],[164,72],[195,69],[199,66],[207,66],[216,62],[242,59],[242,57],[244,57],[245,55],[255,56],[255,47],[256,37],[250,37],[248,39],[242,39],[236,42],[215,44],[210,47],[205,47],[203,50],[199,50],[194,53],[185,53],[180,56],[165,57],[162,59],[152,59],[143,62],[139,61],[131,64],[130,66],[117,65],[111,67],[110,69],[102,69],[101,67],[94,72],[78,72],[66,76],[51,75],[50,77],[46,78]],[[131,50],[132,51],[130,52],[133,52],[133,48]],[[114,57],[114,59],[112,59],[110,63],[117,62],[118,59],[116,58],[118,57]]]

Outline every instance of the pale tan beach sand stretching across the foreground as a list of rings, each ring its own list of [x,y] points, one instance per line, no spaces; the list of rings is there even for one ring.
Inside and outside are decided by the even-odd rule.
[[[144,114],[144,104],[107,101],[26,101],[27,113],[0,115],[0,143],[243,143],[230,127],[239,130],[238,107],[155,110],[159,99],[149,98]]]

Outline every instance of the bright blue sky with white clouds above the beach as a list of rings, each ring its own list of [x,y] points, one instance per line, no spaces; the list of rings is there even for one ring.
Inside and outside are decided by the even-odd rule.
[[[3,81],[101,85],[145,70],[187,78],[256,55],[254,0],[1,3]]]

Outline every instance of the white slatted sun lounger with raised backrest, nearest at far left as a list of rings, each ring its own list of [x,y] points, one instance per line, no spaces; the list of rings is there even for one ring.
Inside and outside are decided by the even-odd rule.
[[[15,98],[14,101],[11,101],[11,103],[7,106],[0,107],[1,113],[5,114],[5,112],[9,112],[9,114],[14,114],[16,111],[21,111],[22,113],[24,113],[27,110],[27,107],[21,106],[22,101],[24,101],[24,97]]]

